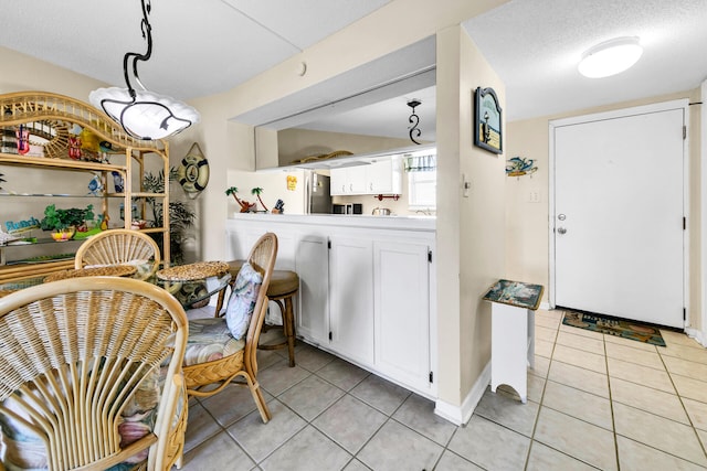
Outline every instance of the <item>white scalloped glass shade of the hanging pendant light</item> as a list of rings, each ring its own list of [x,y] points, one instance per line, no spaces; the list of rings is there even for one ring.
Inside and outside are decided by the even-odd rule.
[[[98,88],[91,92],[88,100],[136,139],[162,139],[200,119],[191,106],[149,90],[135,90],[134,99],[127,88]]]

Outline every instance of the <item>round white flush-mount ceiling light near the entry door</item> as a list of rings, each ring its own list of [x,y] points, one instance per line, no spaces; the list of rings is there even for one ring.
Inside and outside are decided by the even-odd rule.
[[[630,68],[639,62],[641,54],[643,47],[637,38],[616,38],[584,52],[578,69],[585,77],[609,77]]]

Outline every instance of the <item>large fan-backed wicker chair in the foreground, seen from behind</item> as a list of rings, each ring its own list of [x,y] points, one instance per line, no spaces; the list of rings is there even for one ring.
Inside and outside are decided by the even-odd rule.
[[[181,465],[187,322],[167,291],[126,278],[66,279],[0,299],[6,464]]]

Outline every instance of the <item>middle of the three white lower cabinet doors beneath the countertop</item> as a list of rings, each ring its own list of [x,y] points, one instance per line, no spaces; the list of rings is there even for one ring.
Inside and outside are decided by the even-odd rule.
[[[370,365],[373,363],[372,240],[336,236],[330,242],[330,347]]]

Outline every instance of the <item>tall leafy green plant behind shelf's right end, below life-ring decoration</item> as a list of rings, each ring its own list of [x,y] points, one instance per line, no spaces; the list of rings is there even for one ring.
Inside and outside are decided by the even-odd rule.
[[[169,181],[177,181],[177,169],[173,167],[169,169]],[[160,170],[157,174],[152,174],[151,172],[145,173],[143,188],[149,193],[163,193],[165,172]],[[146,197],[145,200],[152,213],[152,225],[161,225],[163,204],[159,199],[155,197]],[[175,265],[183,263],[182,240],[184,239],[187,229],[193,225],[196,217],[197,214],[183,201],[169,202],[169,257]],[[156,242],[160,250],[163,250],[162,238],[157,237]]]

